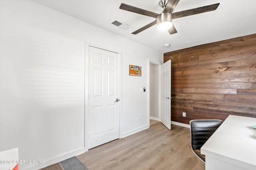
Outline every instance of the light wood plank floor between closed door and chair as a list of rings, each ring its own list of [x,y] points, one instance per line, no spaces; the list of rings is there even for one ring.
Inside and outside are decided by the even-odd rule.
[[[190,129],[160,122],[76,157],[89,170],[205,170],[190,148]]]

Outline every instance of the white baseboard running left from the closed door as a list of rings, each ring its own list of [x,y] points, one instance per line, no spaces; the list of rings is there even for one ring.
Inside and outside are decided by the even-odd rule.
[[[57,156],[55,158],[46,160],[46,161],[44,161],[44,164],[36,164],[36,165],[30,166],[29,168],[26,168],[25,170],[38,170],[38,169],[44,168],[46,166],[58,163],[58,162],[60,162],[62,160],[65,160],[65,159],[71,158],[73,156],[77,156],[79,154],[82,154],[82,153],[84,153],[84,151],[85,151],[85,148],[83,147],[83,148],[74,150],[72,152],[68,152],[66,154],[62,154],[62,155]]]

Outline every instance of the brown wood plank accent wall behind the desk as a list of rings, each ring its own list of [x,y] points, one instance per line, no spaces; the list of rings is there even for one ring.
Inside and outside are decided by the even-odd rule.
[[[256,117],[256,34],[164,53],[168,60],[172,121]]]

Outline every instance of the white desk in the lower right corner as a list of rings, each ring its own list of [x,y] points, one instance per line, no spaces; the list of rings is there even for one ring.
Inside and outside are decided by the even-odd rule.
[[[256,170],[256,118],[229,115],[201,148],[206,170]]]

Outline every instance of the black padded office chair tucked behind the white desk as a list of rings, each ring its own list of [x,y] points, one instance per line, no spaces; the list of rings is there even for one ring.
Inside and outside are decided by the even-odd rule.
[[[201,147],[212,136],[221,125],[221,120],[191,120],[191,148],[202,161],[205,162],[205,155],[201,154]]]

